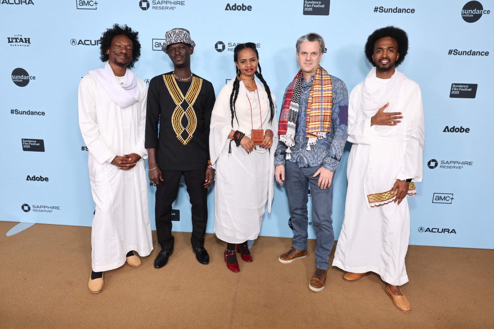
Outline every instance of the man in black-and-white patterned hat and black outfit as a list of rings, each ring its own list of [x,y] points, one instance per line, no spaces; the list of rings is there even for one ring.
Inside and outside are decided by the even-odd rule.
[[[195,46],[186,29],[166,32],[162,49],[173,62],[173,71],[149,82],[145,147],[149,179],[156,184],[156,231],[161,245],[155,268],[165,266],[173,253],[171,205],[182,176],[192,205],[192,249],[201,264],[209,263],[204,235],[207,188],[214,179],[208,140],[215,96],[211,82],[191,71],[190,56]]]

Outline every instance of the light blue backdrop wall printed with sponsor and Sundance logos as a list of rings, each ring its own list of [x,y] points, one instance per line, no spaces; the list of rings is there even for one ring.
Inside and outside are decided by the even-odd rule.
[[[322,66],[350,91],[371,69],[363,51],[369,34],[394,25],[410,37],[399,69],[422,89],[426,124],[423,182],[410,199],[410,243],[494,248],[492,10],[493,0],[0,0],[0,220],[91,225],[95,206],[77,92],[87,71],[103,67],[99,38],[114,23],[139,32],[142,51],[134,72],[147,82],[172,70],[161,51],[165,32],[187,28],[196,42],[192,71],[212,82],[216,94],[235,77],[235,45],[255,42],[278,108],[298,70],[298,37],[324,37]],[[336,237],[350,147],[333,182]],[[173,206],[180,220],[173,229],[191,231],[183,181],[181,187]],[[148,190],[153,229],[155,189]],[[289,218],[286,192],[276,184],[261,235],[292,237]],[[314,239],[310,217],[308,225]]]

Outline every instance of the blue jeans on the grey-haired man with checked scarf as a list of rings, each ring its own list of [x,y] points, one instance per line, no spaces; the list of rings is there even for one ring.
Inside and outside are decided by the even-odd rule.
[[[316,267],[327,270],[329,254],[334,245],[333,221],[333,184],[321,190],[317,186],[319,175],[312,177],[321,167],[299,168],[290,161],[285,162],[285,185],[288,195],[288,206],[293,227],[293,247],[298,250],[307,249],[307,202],[309,201],[309,184],[312,192],[312,221],[316,226]]]

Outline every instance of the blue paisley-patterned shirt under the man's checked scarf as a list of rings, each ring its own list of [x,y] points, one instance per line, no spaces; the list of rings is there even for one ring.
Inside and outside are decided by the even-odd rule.
[[[343,81],[331,77],[332,84],[332,109],[331,109],[331,131],[326,134],[325,139],[318,139],[315,146],[307,151],[309,139],[305,137],[307,100],[314,76],[307,82],[302,80],[302,94],[300,95],[297,126],[295,129],[295,145],[290,148],[292,163],[298,164],[299,168],[314,167],[323,164],[328,170],[334,172],[339,164],[343,148],[348,136],[348,90]],[[288,87],[287,87],[288,90]],[[285,93],[287,92],[285,90]],[[287,146],[278,143],[275,151],[275,165],[283,164]]]

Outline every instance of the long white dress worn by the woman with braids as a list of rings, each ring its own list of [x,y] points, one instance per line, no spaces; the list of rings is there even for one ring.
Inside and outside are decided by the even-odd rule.
[[[256,81],[257,92],[249,92],[240,82],[236,102],[237,120],[231,124],[230,95],[234,80],[220,91],[211,114],[209,153],[216,170],[214,185],[214,233],[227,243],[243,243],[259,235],[266,202],[268,212],[274,193],[274,151],[278,144],[276,98],[273,121],[270,119],[268,94],[264,86]],[[259,95],[259,98],[257,97]],[[259,102],[260,99],[260,102]],[[249,103],[250,101],[250,103]],[[252,111],[251,107],[252,106]],[[260,109],[259,109],[260,105]],[[252,113],[252,116],[251,116]],[[228,153],[232,130],[240,130],[250,137],[250,130],[271,129],[274,132],[271,148],[257,149],[247,154],[242,146],[232,142],[232,153]]]

